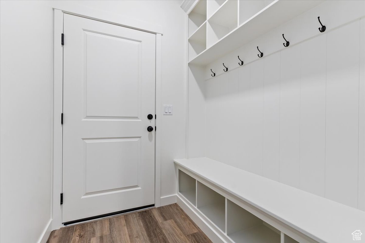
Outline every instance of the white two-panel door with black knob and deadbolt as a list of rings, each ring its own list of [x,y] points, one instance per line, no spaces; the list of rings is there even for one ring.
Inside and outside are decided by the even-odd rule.
[[[154,204],[155,35],[70,14],[64,35],[62,222]]]

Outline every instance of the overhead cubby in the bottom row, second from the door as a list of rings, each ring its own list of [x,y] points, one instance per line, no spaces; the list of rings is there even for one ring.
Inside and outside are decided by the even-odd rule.
[[[238,26],[238,1],[225,1],[208,19],[207,47],[219,41]]]

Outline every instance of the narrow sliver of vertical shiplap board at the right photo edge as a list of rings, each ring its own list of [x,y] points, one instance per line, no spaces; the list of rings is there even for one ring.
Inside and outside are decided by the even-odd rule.
[[[365,18],[360,21],[358,209],[365,211]]]

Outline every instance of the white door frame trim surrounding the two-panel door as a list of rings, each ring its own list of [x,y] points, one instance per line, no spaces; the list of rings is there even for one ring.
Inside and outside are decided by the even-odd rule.
[[[161,38],[162,38],[162,28],[161,26],[149,26],[150,30],[146,30],[146,24],[140,21],[128,20],[128,25],[123,25],[123,23],[118,23],[122,20],[115,20],[114,17],[109,17],[104,15],[91,17],[84,14],[77,14],[74,12],[64,11],[60,9],[54,10],[54,36],[53,36],[53,146],[52,146],[52,230],[57,230],[62,227],[62,207],[60,204],[60,194],[62,192],[62,126],[61,126],[61,113],[62,113],[62,90],[63,90],[63,47],[61,45],[61,34],[63,33],[63,15],[64,13],[71,13],[73,15],[87,17],[89,19],[94,19],[98,21],[103,21],[105,23],[116,24],[119,26],[134,28],[136,30],[142,30],[156,34],[156,77],[155,77],[155,114],[156,117],[156,127],[160,125],[161,121]],[[118,22],[116,22],[118,21]],[[132,25],[132,26],[131,26]],[[151,31],[153,30],[153,31]],[[156,32],[156,31],[160,31]],[[65,44],[67,44],[67,36],[65,36]],[[155,207],[160,207],[161,205],[161,132],[160,129],[155,130]],[[67,198],[67,195],[66,195]],[[66,199],[67,200],[67,199]]]

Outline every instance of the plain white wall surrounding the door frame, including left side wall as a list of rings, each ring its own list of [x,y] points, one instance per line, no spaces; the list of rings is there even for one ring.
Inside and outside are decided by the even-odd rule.
[[[161,196],[176,194],[185,157],[185,20],[181,1],[0,1],[0,242],[38,242],[51,219],[53,10],[159,24],[162,36]],[[19,231],[21,229],[21,231]]]

